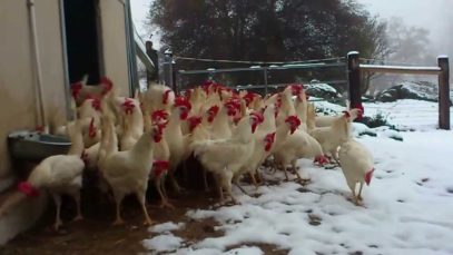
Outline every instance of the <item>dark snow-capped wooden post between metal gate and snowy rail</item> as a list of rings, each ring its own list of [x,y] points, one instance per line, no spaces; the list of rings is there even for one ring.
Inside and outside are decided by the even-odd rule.
[[[347,80],[349,84],[351,108],[362,108],[361,69],[357,51],[347,53]]]

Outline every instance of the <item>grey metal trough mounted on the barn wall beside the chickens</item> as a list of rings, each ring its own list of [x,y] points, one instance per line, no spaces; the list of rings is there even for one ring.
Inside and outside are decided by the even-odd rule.
[[[20,130],[8,136],[8,148],[13,159],[42,160],[49,156],[67,154],[71,141],[63,136]]]

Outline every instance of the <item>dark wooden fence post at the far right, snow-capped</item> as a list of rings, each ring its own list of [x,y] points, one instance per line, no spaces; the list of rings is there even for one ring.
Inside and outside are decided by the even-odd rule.
[[[450,67],[449,57],[437,57],[439,75],[439,128],[450,130]]]

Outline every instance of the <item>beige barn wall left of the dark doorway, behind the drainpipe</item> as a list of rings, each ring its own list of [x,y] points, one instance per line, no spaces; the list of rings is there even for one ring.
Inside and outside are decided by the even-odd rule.
[[[36,1],[36,19],[45,107],[49,117],[56,108],[66,117],[62,48],[58,0]],[[7,135],[37,126],[31,40],[27,0],[0,2],[0,192],[11,173]]]

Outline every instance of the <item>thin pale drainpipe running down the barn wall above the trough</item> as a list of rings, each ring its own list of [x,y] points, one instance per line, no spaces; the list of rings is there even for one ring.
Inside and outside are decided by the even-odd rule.
[[[28,14],[29,14],[29,28],[30,28],[30,36],[31,36],[31,56],[33,61],[33,71],[36,75],[36,110],[37,110],[37,126],[38,128],[43,128],[42,131],[48,133],[49,126],[47,122],[47,115],[43,106],[42,99],[42,71],[41,71],[41,63],[39,58],[39,47],[38,47],[38,32],[36,26],[36,13],[35,13],[35,0],[27,0],[28,7]]]

